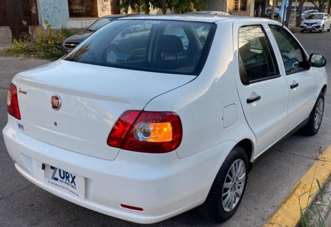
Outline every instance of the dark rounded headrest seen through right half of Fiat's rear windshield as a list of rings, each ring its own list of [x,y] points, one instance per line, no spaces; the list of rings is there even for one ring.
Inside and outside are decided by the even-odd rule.
[[[183,42],[176,35],[162,35],[159,39],[158,51],[168,54],[182,53]]]

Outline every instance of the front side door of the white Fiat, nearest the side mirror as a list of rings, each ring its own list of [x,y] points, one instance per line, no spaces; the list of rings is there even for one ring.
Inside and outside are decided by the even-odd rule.
[[[309,67],[307,55],[296,38],[278,25],[269,25],[278,46],[276,53],[283,60],[282,74],[288,83],[288,118],[284,134],[301,123],[312,110],[314,104],[315,74]]]

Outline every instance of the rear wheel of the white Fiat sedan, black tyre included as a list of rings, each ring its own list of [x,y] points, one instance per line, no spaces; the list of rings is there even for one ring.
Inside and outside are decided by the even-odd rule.
[[[200,213],[213,222],[229,219],[237,210],[246,188],[248,159],[245,150],[234,147],[219,169]]]

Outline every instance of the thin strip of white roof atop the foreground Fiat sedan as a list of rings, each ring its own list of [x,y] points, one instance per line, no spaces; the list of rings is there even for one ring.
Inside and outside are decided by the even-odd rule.
[[[168,15],[144,15],[140,17],[125,17],[118,20],[146,19],[146,20],[170,20],[170,21],[191,21],[214,23],[222,20],[251,19],[251,21],[270,21],[270,19],[234,16],[234,15],[213,15],[213,14],[168,14]]]

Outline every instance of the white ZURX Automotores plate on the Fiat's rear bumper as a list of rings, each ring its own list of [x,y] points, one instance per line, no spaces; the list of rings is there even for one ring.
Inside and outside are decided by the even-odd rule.
[[[66,170],[44,164],[44,180],[46,183],[56,187],[68,194],[84,200],[85,179]]]

